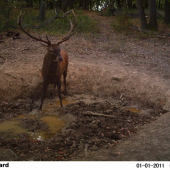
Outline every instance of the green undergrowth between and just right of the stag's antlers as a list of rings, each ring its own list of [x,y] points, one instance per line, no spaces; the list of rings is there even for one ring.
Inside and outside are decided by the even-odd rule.
[[[89,16],[84,15],[83,11],[76,10],[75,11],[76,19],[77,19],[77,27],[76,32],[98,32],[99,28],[96,26],[97,22],[94,19],[91,19]],[[55,16],[54,10],[47,10],[46,12],[46,20],[50,20]],[[23,27],[27,30],[32,30],[40,33],[48,33],[48,34],[65,34],[70,29],[70,24],[65,18],[62,18],[63,13],[59,13],[59,17],[55,19],[50,24],[45,24],[44,22],[40,22],[38,18],[38,10],[27,10],[25,11]],[[71,19],[74,22],[73,15],[67,15],[68,19]]]

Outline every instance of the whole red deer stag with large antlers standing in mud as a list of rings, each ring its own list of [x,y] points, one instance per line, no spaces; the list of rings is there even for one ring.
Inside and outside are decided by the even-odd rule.
[[[71,20],[68,20],[66,17],[67,14],[70,12],[73,13],[74,16],[74,23],[72,23]],[[64,86],[65,86],[65,94],[66,94],[66,77],[67,77],[67,67],[68,67],[68,54],[60,50],[59,45],[70,39],[70,37],[75,33],[75,27],[77,25],[77,20],[74,14],[74,11],[71,10],[63,15],[67,19],[67,21],[70,23],[71,28],[68,34],[60,39],[57,43],[52,44],[50,40],[48,39],[48,36],[46,35],[47,40],[43,40],[42,38],[37,38],[28,33],[21,25],[23,17],[21,18],[21,14],[18,18],[18,25],[20,26],[21,30],[26,33],[29,37],[31,37],[34,40],[43,42],[47,44],[47,52],[44,57],[44,62],[42,66],[42,77],[43,77],[43,95],[42,100],[39,109],[42,110],[43,101],[45,98],[45,94],[47,91],[47,87],[49,84],[54,84],[54,91],[57,86],[58,89],[58,97],[60,99],[60,106],[62,107],[62,99],[61,99],[61,76],[64,77]]]

